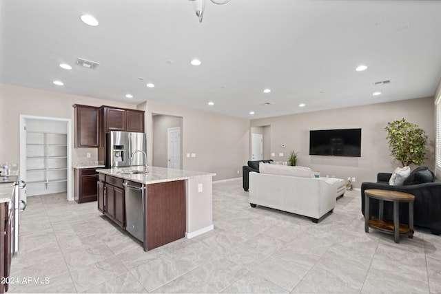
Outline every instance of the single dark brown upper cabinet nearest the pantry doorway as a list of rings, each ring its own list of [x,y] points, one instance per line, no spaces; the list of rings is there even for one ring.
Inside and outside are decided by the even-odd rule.
[[[75,147],[99,147],[99,107],[73,105],[75,109]]]

